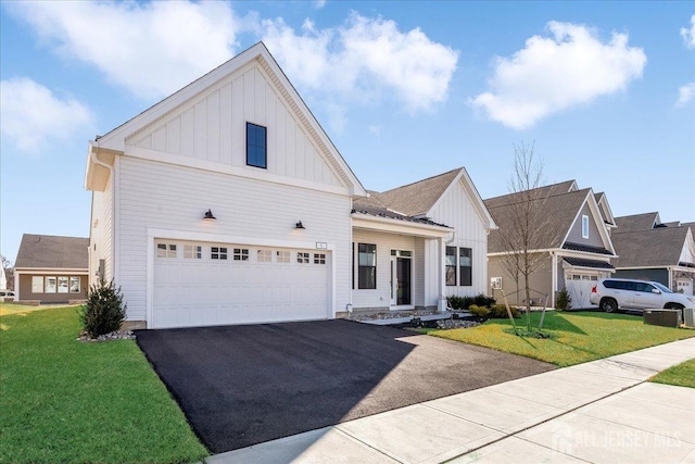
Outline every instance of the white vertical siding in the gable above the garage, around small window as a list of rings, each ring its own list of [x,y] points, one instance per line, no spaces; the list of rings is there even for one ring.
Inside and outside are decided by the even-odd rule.
[[[341,187],[339,176],[268,79],[257,61],[249,63],[163,121],[128,137],[126,143],[245,166],[249,122],[267,127],[267,173]]]

